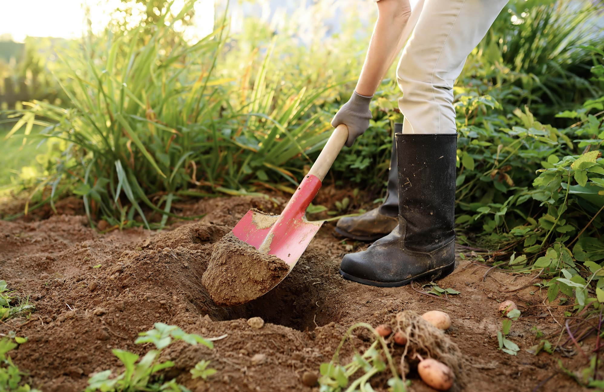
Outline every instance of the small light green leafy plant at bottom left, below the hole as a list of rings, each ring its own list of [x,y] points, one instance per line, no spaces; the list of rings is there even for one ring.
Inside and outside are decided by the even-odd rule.
[[[153,379],[158,371],[174,366],[172,361],[158,362],[158,359],[162,350],[176,340],[185,341],[193,346],[201,343],[210,349],[214,348],[211,341],[205,340],[199,335],[187,334],[173,325],[155,323],[154,329],[141,332],[140,337],[134,343],[153,343],[156,350],[149,350],[140,361],[138,361],[140,357],[135,353],[127,350],[112,350],[114,355],[124,364],[124,372],[115,378],[110,378],[111,370],[100,371],[88,380],[86,392],[188,391],[182,385],[176,384],[175,379],[164,383]],[[208,364],[208,361],[201,361],[195,365],[191,370],[193,378],[201,377],[205,380],[208,376],[216,373],[216,370],[207,368]]]

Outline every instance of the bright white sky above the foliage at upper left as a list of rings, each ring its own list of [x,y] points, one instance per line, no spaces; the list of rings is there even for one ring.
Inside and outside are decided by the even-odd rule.
[[[109,22],[109,13],[120,0],[0,0],[0,35],[10,34],[16,42],[26,36],[76,38],[85,31],[85,6],[90,7],[92,30],[101,30]],[[182,8],[184,0],[176,0],[173,11]],[[203,37],[214,24],[214,0],[198,0],[195,4],[194,27],[187,34]]]

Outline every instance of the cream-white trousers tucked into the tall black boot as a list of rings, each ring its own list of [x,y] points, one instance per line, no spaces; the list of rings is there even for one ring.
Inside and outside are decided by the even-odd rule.
[[[399,99],[403,133],[455,133],[455,79],[506,4],[507,0],[418,2],[408,22],[417,24],[396,72],[403,91]]]

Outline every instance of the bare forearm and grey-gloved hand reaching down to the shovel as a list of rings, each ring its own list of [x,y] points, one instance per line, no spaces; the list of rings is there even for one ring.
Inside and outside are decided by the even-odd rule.
[[[409,0],[377,1],[377,21],[355,92],[332,120],[334,127],[339,124],[347,125],[348,147],[369,127],[371,97],[400,49],[403,29],[410,15]]]

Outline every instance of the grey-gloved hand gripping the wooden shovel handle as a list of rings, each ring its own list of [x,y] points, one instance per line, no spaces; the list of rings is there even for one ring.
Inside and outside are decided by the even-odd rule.
[[[345,124],[348,127],[348,140],[346,147],[352,147],[355,139],[365,133],[369,128],[369,120],[372,118],[369,110],[371,96],[361,95],[355,92],[352,93],[350,100],[342,105],[332,119],[332,126],[335,128],[340,124]]]

